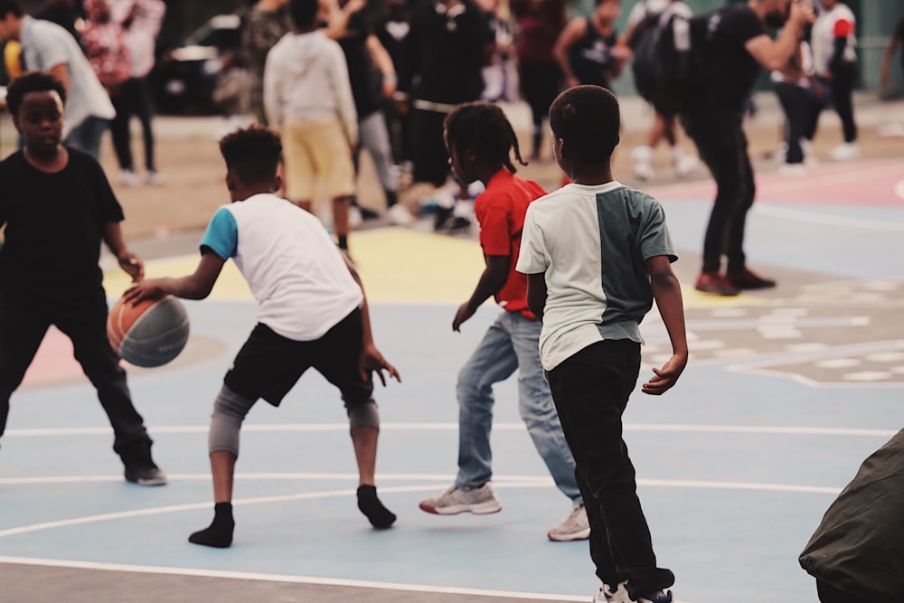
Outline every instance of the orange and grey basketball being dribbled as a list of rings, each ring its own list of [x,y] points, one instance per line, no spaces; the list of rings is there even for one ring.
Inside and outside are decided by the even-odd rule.
[[[120,297],[110,308],[107,336],[127,363],[162,366],[178,356],[188,341],[188,312],[178,297],[144,299],[136,306]]]

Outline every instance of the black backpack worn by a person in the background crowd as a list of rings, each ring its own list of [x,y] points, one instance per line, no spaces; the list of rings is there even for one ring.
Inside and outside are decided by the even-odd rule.
[[[691,17],[683,2],[648,9],[628,41],[638,94],[664,112],[683,108],[702,54],[702,44],[692,43]]]

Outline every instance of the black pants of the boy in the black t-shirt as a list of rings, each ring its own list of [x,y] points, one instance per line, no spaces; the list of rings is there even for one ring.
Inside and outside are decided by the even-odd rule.
[[[0,295],[0,436],[6,429],[9,399],[22,383],[47,329],[55,325],[71,339],[75,359],[98,391],[113,426],[113,449],[127,464],[149,460],[151,438],[132,404],[126,372],[107,339],[106,300],[99,296],[59,306],[51,315]]]

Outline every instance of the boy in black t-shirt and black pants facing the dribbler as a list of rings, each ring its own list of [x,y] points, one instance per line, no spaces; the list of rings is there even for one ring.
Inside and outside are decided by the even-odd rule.
[[[151,459],[151,438],[132,404],[126,372],[107,339],[107,296],[99,268],[100,241],[133,280],[144,265],[127,250],[122,208],[98,162],[61,145],[66,90],[33,71],[10,85],[6,98],[24,149],[0,162],[0,436],[9,399],[44,334],[55,325],[72,341],[75,358],[98,391],[126,479],[163,485]]]

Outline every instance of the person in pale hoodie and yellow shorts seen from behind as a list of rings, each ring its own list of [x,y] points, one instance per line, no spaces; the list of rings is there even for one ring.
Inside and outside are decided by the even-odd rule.
[[[354,194],[353,149],[358,116],[345,56],[317,24],[317,0],[290,0],[293,31],[264,65],[264,110],[284,145],[286,196],[310,212],[316,178],[333,203],[333,230],[348,251],[348,210]]]

